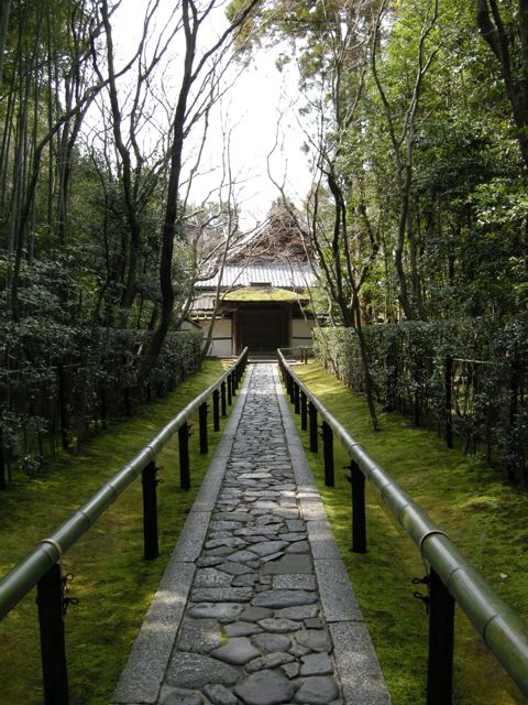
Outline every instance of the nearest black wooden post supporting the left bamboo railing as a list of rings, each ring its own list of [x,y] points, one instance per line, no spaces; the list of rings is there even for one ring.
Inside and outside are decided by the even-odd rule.
[[[36,585],[44,705],[68,705],[69,702],[63,599],[63,572],[61,564],[55,563]]]

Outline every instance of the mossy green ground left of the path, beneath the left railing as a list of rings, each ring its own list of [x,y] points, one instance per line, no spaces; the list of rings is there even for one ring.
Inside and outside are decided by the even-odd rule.
[[[48,535],[143,447],[183,406],[222,372],[210,361],[165,399],[113,423],[78,455],[63,455],[36,479],[22,477],[0,494],[0,575]],[[229,408],[228,408],[229,410]],[[211,414],[212,415],[212,414]],[[212,420],[210,419],[212,423]],[[221,422],[222,429],[224,421]],[[64,556],[74,575],[68,595],[78,598],[66,617],[70,703],[110,702],[117,679],[157,583],[193,506],[220,438],[209,427],[209,454],[200,456],[198,422],[190,438],[191,489],[179,489],[177,438],[158,456],[160,557],[143,560],[141,480],[136,480]],[[0,622],[1,705],[43,702],[35,594]]]

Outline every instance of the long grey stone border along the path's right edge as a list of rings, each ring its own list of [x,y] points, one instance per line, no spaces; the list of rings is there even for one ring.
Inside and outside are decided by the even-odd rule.
[[[300,511],[307,522],[310,544],[314,539],[316,540],[314,565],[323,618],[328,622],[333,641],[333,657],[343,701],[346,705],[391,705],[388,686],[294,424],[277,367],[274,367],[273,372],[278,406],[298,485]],[[322,536],[320,544],[318,544],[318,536]],[[338,579],[332,581],[329,568]]]

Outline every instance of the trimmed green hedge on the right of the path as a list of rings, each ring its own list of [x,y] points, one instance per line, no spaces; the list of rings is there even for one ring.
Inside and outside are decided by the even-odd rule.
[[[378,403],[437,429],[448,445],[507,469],[528,484],[528,318],[407,322],[363,328]],[[351,328],[315,332],[322,365],[364,391]]]

